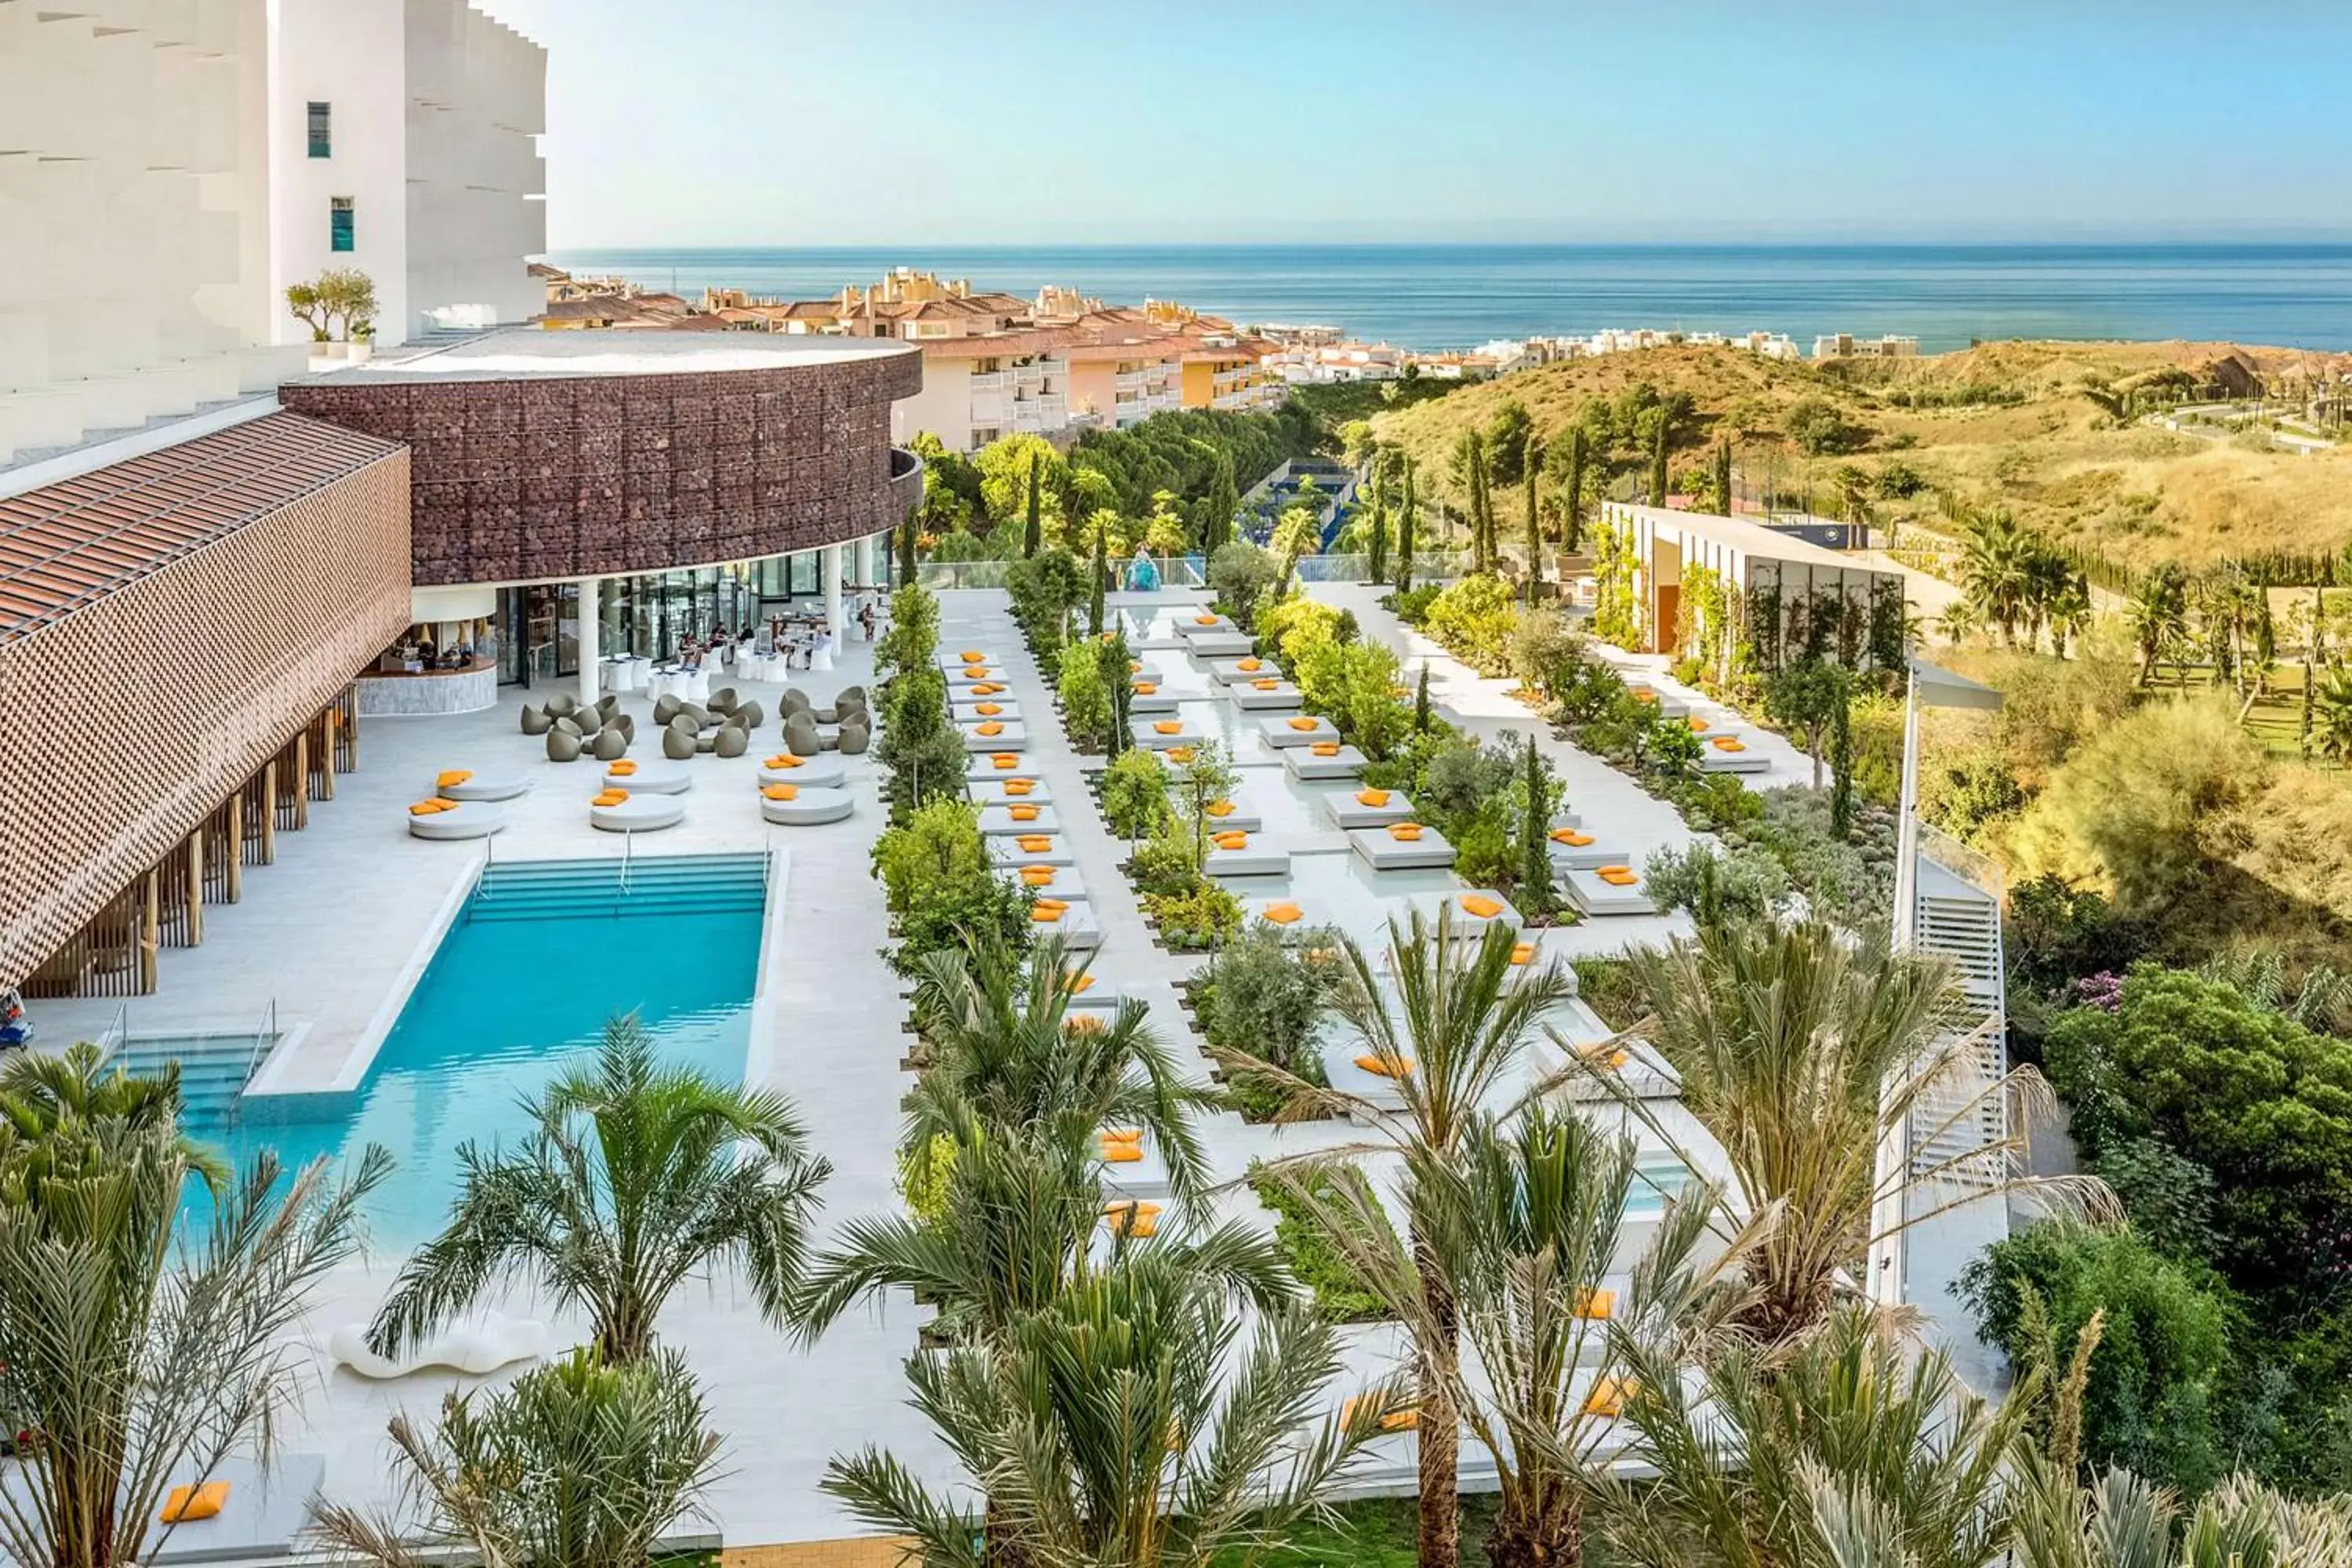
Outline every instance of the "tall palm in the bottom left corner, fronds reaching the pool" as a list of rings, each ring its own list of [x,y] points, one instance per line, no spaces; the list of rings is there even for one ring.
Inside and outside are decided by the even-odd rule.
[[[0,1488],[0,1549],[19,1563],[146,1561],[165,1490],[233,1453],[268,1458],[308,1354],[313,1286],[360,1244],[360,1201],[390,1171],[372,1147],[350,1180],[325,1161],[285,1178],[268,1154],[214,1192],[209,1229],[174,1246],[200,1175],[155,1117],[64,1117],[0,1152],[0,1406],[19,1448]]]

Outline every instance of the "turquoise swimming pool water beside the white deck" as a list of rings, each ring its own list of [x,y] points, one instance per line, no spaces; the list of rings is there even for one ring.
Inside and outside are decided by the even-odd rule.
[[[494,865],[343,1107],[235,1105],[235,1079],[207,1086],[191,1067],[193,1131],[238,1164],[270,1147],[289,1168],[320,1154],[341,1166],[381,1143],[395,1166],[367,1206],[369,1239],[400,1251],[442,1227],[456,1150],[522,1138],[522,1100],[586,1060],[616,1013],[635,1011],[663,1060],[741,1081],[764,858],[644,858],[628,891],[619,875],[616,863]]]

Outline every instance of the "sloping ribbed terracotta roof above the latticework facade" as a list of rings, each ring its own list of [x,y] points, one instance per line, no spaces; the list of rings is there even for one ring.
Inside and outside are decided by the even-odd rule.
[[[343,425],[268,414],[9,496],[0,501],[0,642],[397,451]]]

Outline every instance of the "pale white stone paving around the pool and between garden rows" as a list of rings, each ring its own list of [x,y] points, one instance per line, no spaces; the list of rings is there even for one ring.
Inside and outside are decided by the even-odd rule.
[[[1505,682],[1470,677],[1397,625],[1395,616],[1378,609],[1374,590],[1331,585],[1317,588],[1317,595],[1352,609],[1367,635],[1406,654],[1409,670],[1428,656],[1435,701],[1472,733],[1538,731],[1569,783],[1569,809],[1585,823],[1606,825],[1611,842],[1623,844],[1635,863],[1661,844],[1689,837],[1670,806],[1597,759],[1552,741],[1526,708],[1501,696]],[[1141,628],[1204,597],[1115,595],[1115,604]],[[1018,639],[1004,595],[964,590],[941,599],[941,646],[990,654],[1007,684],[1004,696],[1033,719],[1033,745],[1021,773],[1042,778],[1051,799],[1070,806],[1061,813],[1058,849],[1070,856],[1103,931],[1103,945],[1094,954],[1096,994],[1145,1001],[1152,1025],[1178,1060],[1207,1079],[1202,1041],[1176,1006],[1176,987],[1200,959],[1150,943],[1134,889],[1120,872],[1127,846],[1108,835],[1084,788],[1101,759],[1080,759],[1065,745],[1051,693]],[[1157,656],[1162,689],[1178,693],[1188,715],[1195,703],[1204,715],[1225,715],[1228,722],[1214,724],[1211,733],[1244,743],[1235,797],[1265,813],[1265,832],[1284,849],[1310,858],[1336,856],[1329,865],[1341,865],[1345,839],[1331,832],[1319,806],[1319,795],[1331,785],[1289,780],[1270,748],[1258,745],[1256,736],[1235,733],[1242,724],[1232,722],[1240,715],[1228,703],[1207,701],[1214,679],[1200,658],[1183,651],[1183,639],[1169,635],[1152,646],[1167,644],[1174,646]],[[851,642],[837,670],[802,675],[793,684],[823,703],[837,686],[854,682],[870,684],[870,644]],[[769,715],[779,710],[781,684],[731,684],[757,698]],[[360,736],[360,769],[336,780],[336,799],[313,802],[306,832],[280,835],[275,865],[247,872],[245,903],[207,907],[202,947],[162,952],[160,990],[129,1001],[132,1034],[245,1030],[256,1027],[275,1006],[280,1030],[292,1039],[268,1067],[270,1086],[350,1081],[397,1013],[407,985],[485,853],[499,860],[621,856],[623,839],[588,825],[586,802],[597,788],[597,769],[546,762],[543,741],[522,736],[515,724],[520,698],[520,691],[508,691],[494,710],[466,717],[369,719]],[[637,696],[623,698],[623,705],[640,724],[635,755],[652,755],[642,743],[652,733],[652,705]],[[760,759],[776,750],[771,741],[774,722],[762,726],[748,757],[687,762],[696,780],[684,797],[687,820],[644,835],[633,853],[776,856],[781,882],[762,950],[760,1027],[750,1065],[760,1086],[793,1095],[816,1152],[833,1161],[821,1218],[821,1232],[830,1232],[844,1220],[896,1206],[894,1145],[910,1077],[898,1067],[908,1044],[901,1034],[901,983],[880,957],[887,917],[868,870],[882,811],[875,799],[875,764],[858,757],[849,759],[849,788],[858,797],[849,820],[823,827],[764,825],[755,778]],[[534,790],[508,804],[510,825],[492,851],[482,844],[428,844],[407,835],[405,806],[428,795],[433,773],[449,766],[522,769],[534,778]],[[1541,945],[1548,954],[1599,954],[1679,929],[1686,929],[1679,917],[1585,922],[1543,933]],[[579,966],[590,971],[626,964],[628,957],[583,952]],[[115,1009],[115,1001],[99,999],[42,1001],[33,1016],[42,1044],[61,1046],[101,1034]],[[1207,1117],[1200,1131],[1223,1182],[1237,1180],[1258,1157],[1362,1138],[1362,1128],[1341,1121],[1261,1128],[1232,1114]],[[1263,1215],[1247,1192],[1240,1199],[1225,1192],[1218,1208],[1228,1204]],[[383,1255],[339,1272],[313,1312],[315,1340],[322,1342],[339,1324],[367,1319],[395,1267],[397,1258]],[[510,1314],[546,1316],[532,1300],[492,1305]],[[703,1378],[713,1425],[727,1434],[729,1474],[710,1495],[710,1512],[727,1544],[856,1535],[856,1523],[818,1493],[818,1481],[830,1455],[866,1443],[891,1448],[931,1481],[953,1476],[946,1450],[906,1406],[901,1368],[915,1352],[915,1331],[927,1316],[927,1309],[894,1293],[875,1309],[847,1314],[816,1347],[800,1347],[764,1328],[727,1279],[682,1288],[670,1300],[661,1338],[689,1354]],[[557,1342],[572,1342],[579,1333],[579,1324],[557,1321]],[[485,1380],[430,1373],[362,1382],[322,1363],[303,1408],[282,1427],[280,1446],[285,1453],[325,1458],[322,1490],[329,1497],[390,1502],[386,1418],[395,1408],[428,1415],[447,1387],[477,1382]]]

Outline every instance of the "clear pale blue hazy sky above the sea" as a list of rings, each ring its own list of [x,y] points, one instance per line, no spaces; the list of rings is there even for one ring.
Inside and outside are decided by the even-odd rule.
[[[548,242],[2352,235],[2345,0],[477,0]]]

